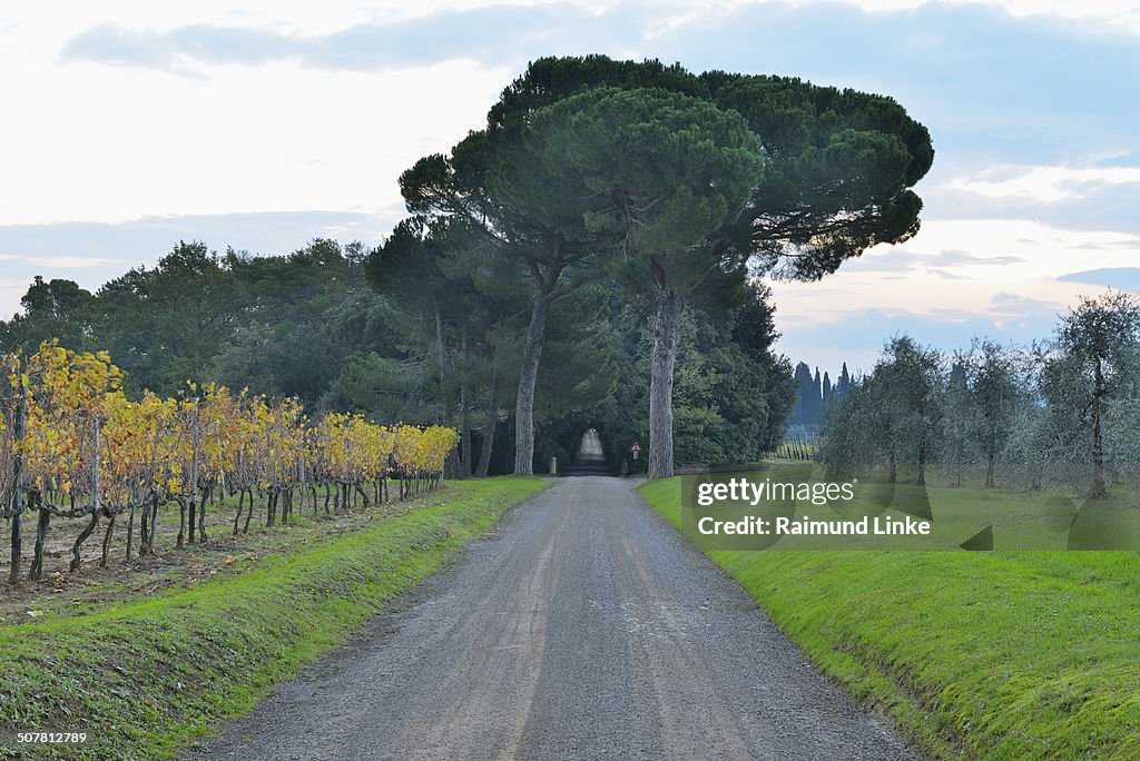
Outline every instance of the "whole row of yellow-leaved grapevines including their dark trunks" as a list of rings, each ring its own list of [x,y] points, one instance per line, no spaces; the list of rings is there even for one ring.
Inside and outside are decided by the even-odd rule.
[[[0,363],[0,508],[10,527],[11,583],[24,573],[25,524],[34,522],[26,579],[38,581],[49,537],[59,533],[54,519],[67,522],[68,570],[78,572],[84,542],[100,530],[107,564],[123,522],[125,559],[155,554],[164,510],[173,521],[177,509],[173,543],[182,548],[205,543],[206,506],[234,497],[234,534],[249,532],[259,504],[272,526],[306,507],[332,515],[390,501],[392,488],[406,499],[440,483],[458,442],[442,426],[383,426],[336,412],[309,419],[295,399],[215,384],[131,401],[106,352],[56,342]]]

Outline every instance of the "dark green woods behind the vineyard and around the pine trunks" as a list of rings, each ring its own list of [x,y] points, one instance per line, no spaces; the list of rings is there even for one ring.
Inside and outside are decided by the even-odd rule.
[[[80,350],[109,347],[132,394],[145,387],[173,394],[187,379],[217,378],[298,395],[314,411],[447,422],[466,431],[461,465],[480,475],[508,473],[512,426],[504,422],[513,409],[527,297],[518,280],[491,277],[498,270],[490,265],[477,288],[480,272],[448,267],[455,262],[447,256],[414,256],[435,245],[431,235],[405,224],[366,253],[317,240],[267,257],[180,244],[156,268],[132,270],[95,294],[68,280],[38,280],[24,311],[0,322],[2,346],[34,351],[43,338],[66,336]],[[398,252],[407,261],[388,259]],[[404,269],[413,267],[422,270]],[[748,294],[739,305],[692,309],[685,318],[677,394],[683,463],[754,459],[781,435],[789,370],[772,353],[767,291]],[[583,432],[597,427],[620,468],[633,439],[644,443],[648,434],[652,342],[644,310],[616,287],[587,284],[555,304],[547,341],[536,459],[573,459]],[[496,427],[484,459],[481,444]]]

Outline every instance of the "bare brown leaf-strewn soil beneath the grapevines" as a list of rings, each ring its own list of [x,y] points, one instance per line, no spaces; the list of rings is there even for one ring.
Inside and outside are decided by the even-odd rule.
[[[176,548],[178,538],[178,507],[168,505],[160,510],[158,533],[155,554],[138,555],[138,524],[136,523],[135,547],[131,559],[127,553],[127,516],[119,516],[108,546],[108,562],[100,567],[103,538],[106,521],[81,548],[80,571],[72,573],[72,543],[87,521],[56,518],[51,533],[44,542],[43,578],[27,581],[32,545],[35,541],[35,516],[25,517],[24,558],[22,581],[18,586],[6,583],[11,564],[7,556],[10,529],[3,524],[0,542],[5,547],[0,562],[0,625],[32,621],[44,613],[67,613],[82,615],[111,603],[145,598],[171,589],[187,589],[212,579],[241,574],[259,562],[285,553],[301,550],[315,542],[323,542],[340,534],[359,531],[377,518],[402,515],[423,504],[434,494],[405,501],[365,506],[363,501],[349,510],[332,515],[324,513],[323,499],[318,499],[317,514],[310,500],[298,505],[291,523],[278,523],[267,527],[266,507],[258,500],[249,533],[234,535],[234,517],[237,514],[237,498],[219,500],[206,506],[206,537],[203,543]],[[245,515],[243,512],[242,522]]]

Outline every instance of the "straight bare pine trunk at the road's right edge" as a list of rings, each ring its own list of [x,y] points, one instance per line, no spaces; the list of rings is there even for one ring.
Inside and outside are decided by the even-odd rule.
[[[673,370],[677,363],[681,296],[667,286],[657,291],[657,329],[649,388],[649,477],[673,476]]]

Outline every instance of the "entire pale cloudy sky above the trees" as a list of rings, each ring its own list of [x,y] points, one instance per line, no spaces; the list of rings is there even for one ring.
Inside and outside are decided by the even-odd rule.
[[[402,170],[529,60],[589,52],[889,95],[930,130],[914,238],[772,284],[793,361],[1027,343],[1140,293],[1140,2],[111,0],[0,16],[0,316],[35,275],[95,289],[179,240],[376,244]]]

